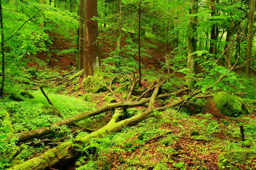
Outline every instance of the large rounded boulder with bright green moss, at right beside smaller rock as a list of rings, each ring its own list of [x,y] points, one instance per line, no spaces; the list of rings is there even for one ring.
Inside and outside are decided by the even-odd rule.
[[[227,94],[226,92],[218,92],[213,101],[216,104],[218,111],[225,116],[237,117],[241,114],[247,114],[248,110],[245,103],[238,97]]]

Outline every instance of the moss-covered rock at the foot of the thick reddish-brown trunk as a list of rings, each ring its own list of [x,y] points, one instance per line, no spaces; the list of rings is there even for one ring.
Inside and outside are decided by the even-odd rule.
[[[108,90],[104,78],[97,78],[96,76],[92,75],[84,78],[82,86],[84,87],[84,91],[91,93],[104,92]]]

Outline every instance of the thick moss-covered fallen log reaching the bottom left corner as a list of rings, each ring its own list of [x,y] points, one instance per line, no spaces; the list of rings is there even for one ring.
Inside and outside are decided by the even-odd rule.
[[[180,105],[183,102],[184,102],[184,99],[170,105],[170,107],[176,107],[177,105]],[[88,142],[89,139],[105,137],[110,133],[117,133],[121,131],[122,128],[124,128],[125,126],[136,125],[142,120],[145,120],[148,117],[154,116],[154,112],[153,112],[154,110],[159,110],[159,109],[150,108],[150,109],[147,109],[147,111],[145,112],[139,113],[131,118],[128,118],[126,120],[122,120],[119,122],[116,122],[116,121],[118,120],[118,117],[122,115],[122,112],[115,111],[115,114],[113,115],[112,120],[110,120],[109,124],[104,126],[103,128],[97,131],[94,131],[89,135],[76,138],[73,141],[65,142],[55,148],[52,148],[51,150],[44,152],[44,154],[38,156],[37,158],[30,159],[27,162],[16,165],[15,167],[12,167],[10,169],[16,169],[16,170],[45,169],[47,167],[51,167],[55,165],[57,162],[61,160],[71,159],[73,156],[76,155],[76,152],[75,152],[76,144],[82,143],[81,144],[82,147],[86,147],[89,144]]]

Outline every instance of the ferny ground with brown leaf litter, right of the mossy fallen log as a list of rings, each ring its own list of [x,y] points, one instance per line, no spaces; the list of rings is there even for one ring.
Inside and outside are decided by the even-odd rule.
[[[228,118],[220,123],[211,114],[189,116],[174,109],[155,115],[136,126],[123,128],[120,133],[92,139],[83,150],[87,156],[77,160],[77,169],[210,169],[218,167],[221,153],[241,148],[256,150],[254,117]],[[226,138],[221,137],[221,124]],[[239,135],[240,125],[244,126],[245,142]],[[163,135],[170,130],[171,133]],[[163,136],[157,138],[160,135]],[[252,162],[247,160],[249,163]]]

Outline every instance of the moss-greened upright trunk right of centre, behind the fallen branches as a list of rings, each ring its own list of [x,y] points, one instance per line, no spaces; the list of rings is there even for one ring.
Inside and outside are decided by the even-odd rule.
[[[190,0],[189,2],[189,14],[195,15],[198,11],[198,0]],[[187,84],[189,88],[194,88],[196,81],[195,74],[196,74],[196,54],[192,54],[197,50],[197,17],[196,16],[189,16],[189,31],[188,31],[188,69],[191,76],[187,78]]]

